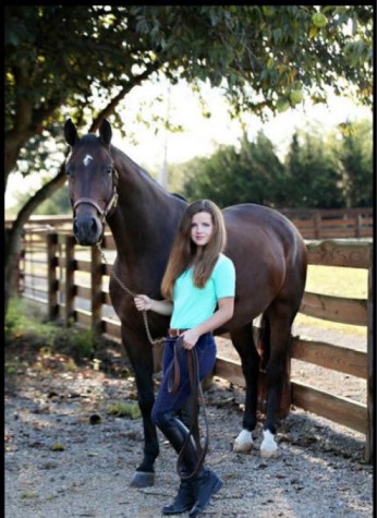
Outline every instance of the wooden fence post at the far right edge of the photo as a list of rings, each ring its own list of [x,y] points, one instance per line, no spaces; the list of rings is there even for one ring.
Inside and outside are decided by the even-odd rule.
[[[367,385],[366,385],[366,411],[367,411],[367,429],[366,429],[366,446],[365,461],[373,463],[375,444],[374,444],[374,423],[375,423],[375,400],[374,400],[374,366],[375,366],[375,348],[373,342],[374,328],[374,308],[373,308],[373,249],[369,246],[370,263],[368,269],[368,336],[367,336]]]

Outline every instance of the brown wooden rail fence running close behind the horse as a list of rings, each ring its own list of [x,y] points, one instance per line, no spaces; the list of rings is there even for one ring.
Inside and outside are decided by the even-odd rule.
[[[319,388],[291,381],[293,405],[366,435],[365,458],[372,461],[373,393],[373,286],[372,240],[309,241],[312,265],[368,269],[368,298],[343,299],[305,292],[300,312],[326,321],[367,327],[367,351],[293,337],[291,358],[366,381],[367,403],[340,398]],[[70,231],[25,229],[21,253],[20,290],[25,297],[48,303],[49,317],[75,322],[120,339],[120,322],[113,313],[108,279],[114,258],[114,242],[106,234],[104,264],[97,248],[76,244]],[[216,374],[244,386],[240,362],[218,357]]]

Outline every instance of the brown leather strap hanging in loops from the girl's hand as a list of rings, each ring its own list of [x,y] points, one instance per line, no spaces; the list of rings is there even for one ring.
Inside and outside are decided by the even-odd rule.
[[[179,347],[182,347],[180,339],[177,340],[177,342],[174,344],[173,369],[170,375],[171,376],[169,381],[170,383],[168,384],[168,390],[172,394],[177,391],[180,385],[180,381],[181,381],[180,364],[179,364],[178,351],[177,351]],[[199,366],[198,366],[198,360],[197,360],[195,348],[187,349],[187,370],[188,370],[188,377],[190,377],[190,385],[191,385],[191,412],[190,412],[191,423],[190,423],[188,434],[186,438],[184,439],[184,443],[182,445],[181,451],[177,460],[177,472],[179,477],[183,480],[192,479],[193,477],[195,477],[197,471],[203,466],[203,462],[207,455],[208,446],[209,446],[207,411],[206,411],[206,406],[204,402],[203,389],[202,389],[202,384],[199,380]],[[171,383],[171,378],[173,380],[172,383]],[[206,426],[204,446],[202,446],[200,444],[200,430],[199,430],[199,421],[198,421],[200,406],[203,408],[204,421],[205,421],[205,426]],[[197,451],[197,462],[193,472],[187,475],[187,474],[184,474],[186,473],[186,470],[184,469],[184,466],[183,466],[183,462],[184,462],[183,459],[184,459],[184,454],[186,451],[191,437],[193,437],[195,442],[196,451]]]

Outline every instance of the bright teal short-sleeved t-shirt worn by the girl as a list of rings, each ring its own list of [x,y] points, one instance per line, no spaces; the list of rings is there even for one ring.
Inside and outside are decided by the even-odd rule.
[[[226,255],[219,255],[211,276],[203,288],[194,286],[193,270],[186,269],[174,284],[170,327],[191,329],[202,324],[214,314],[219,299],[234,297],[234,293],[235,269],[233,262]]]

